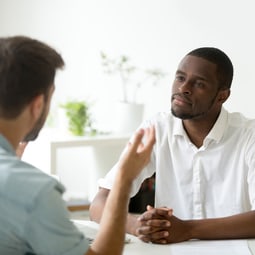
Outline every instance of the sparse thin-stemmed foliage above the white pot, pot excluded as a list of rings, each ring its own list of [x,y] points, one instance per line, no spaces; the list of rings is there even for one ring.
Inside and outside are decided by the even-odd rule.
[[[104,72],[119,76],[122,84],[121,101],[126,103],[137,103],[137,92],[144,84],[150,83],[152,86],[157,86],[159,81],[167,76],[167,73],[159,68],[144,70],[134,66],[126,55],[111,58],[101,52],[100,56]]]

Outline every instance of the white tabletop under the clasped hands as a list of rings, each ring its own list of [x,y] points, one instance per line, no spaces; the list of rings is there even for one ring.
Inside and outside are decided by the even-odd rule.
[[[94,237],[99,226],[91,221],[75,221],[85,236]],[[255,255],[255,239],[187,241],[178,244],[157,245],[144,243],[132,235],[126,235],[130,242],[125,244],[124,255]]]

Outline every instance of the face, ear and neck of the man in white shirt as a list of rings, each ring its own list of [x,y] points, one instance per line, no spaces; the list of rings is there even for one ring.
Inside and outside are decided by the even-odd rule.
[[[215,64],[186,56],[176,71],[172,86],[172,112],[183,119],[190,140],[203,144],[227,100],[229,89],[221,89]]]

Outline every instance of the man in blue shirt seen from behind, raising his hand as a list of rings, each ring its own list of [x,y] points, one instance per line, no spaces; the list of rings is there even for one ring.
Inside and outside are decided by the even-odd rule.
[[[122,157],[100,230],[89,245],[70,221],[64,187],[20,156],[47,117],[62,57],[28,37],[0,38],[0,254],[122,254],[129,191],[149,162],[154,128],[139,130]],[[147,143],[141,140],[147,137]]]

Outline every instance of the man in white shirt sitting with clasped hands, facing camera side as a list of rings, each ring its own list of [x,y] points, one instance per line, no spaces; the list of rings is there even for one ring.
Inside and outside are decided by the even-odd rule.
[[[181,60],[171,113],[141,125],[155,126],[156,143],[132,196],[156,173],[158,209],[148,206],[139,217],[129,214],[129,233],[154,243],[255,237],[255,121],[222,107],[232,78],[232,63],[219,49],[198,48]],[[99,181],[90,208],[95,221],[100,221],[118,164]],[[160,210],[170,213],[165,217]]]

